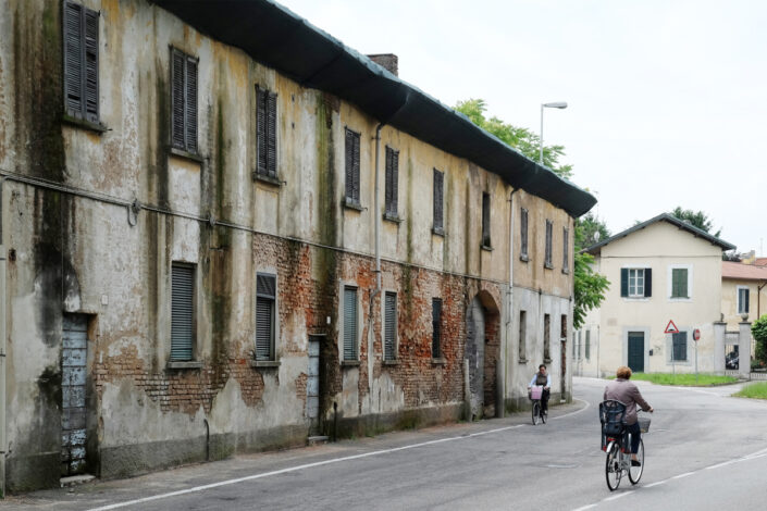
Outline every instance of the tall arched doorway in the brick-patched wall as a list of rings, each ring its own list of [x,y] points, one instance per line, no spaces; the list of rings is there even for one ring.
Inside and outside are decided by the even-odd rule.
[[[499,415],[497,365],[500,352],[498,307],[487,291],[480,291],[467,311],[466,358],[469,361],[471,419]]]

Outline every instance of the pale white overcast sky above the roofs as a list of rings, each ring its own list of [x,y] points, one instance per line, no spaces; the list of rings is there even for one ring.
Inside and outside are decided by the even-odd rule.
[[[443,103],[565,146],[616,234],[676,205],[767,254],[767,1],[282,0]]]

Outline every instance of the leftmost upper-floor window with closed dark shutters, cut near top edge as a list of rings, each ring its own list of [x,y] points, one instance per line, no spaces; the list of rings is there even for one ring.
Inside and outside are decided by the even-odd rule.
[[[99,122],[99,13],[64,2],[64,108],[67,115]]]

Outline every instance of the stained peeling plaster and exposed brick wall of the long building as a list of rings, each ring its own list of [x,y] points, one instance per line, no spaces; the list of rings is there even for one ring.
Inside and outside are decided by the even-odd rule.
[[[478,296],[493,311],[485,335],[493,338],[494,357],[516,352],[517,326],[514,314],[506,319],[504,302],[511,188],[385,126],[381,209],[374,211],[376,120],[300,87],[147,1],[83,3],[100,12],[104,132],[62,123],[61,4],[10,0],[10,9],[0,11],[1,169],[76,190],[16,180],[3,186],[3,232],[13,253],[7,275],[9,488],[58,484],[64,313],[88,320],[88,469],[102,477],[304,443],[310,335],[323,339],[323,433],[461,416],[467,310]],[[197,155],[168,148],[169,47],[199,59]],[[252,177],[257,85],[279,95],[276,184]],[[347,126],[361,134],[362,211],[341,205]],[[386,146],[399,151],[401,217],[381,225],[382,291],[398,297],[392,363],[383,361],[381,295],[371,302]],[[445,173],[446,236],[432,234],[434,169]],[[483,192],[491,197],[493,250],[480,247]],[[114,203],[134,199],[143,205],[138,214]],[[560,236],[572,221],[524,192],[515,197],[519,203],[531,211],[534,248],[529,263],[512,261],[520,288],[514,307],[532,308],[537,300],[535,310],[553,311],[558,325],[556,314],[571,315]],[[554,270],[542,266],[545,219],[555,222]],[[169,364],[174,262],[195,265],[193,367]],[[259,272],[277,277],[276,363],[269,366],[252,356]],[[343,283],[359,289],[359,364],[351,366],[339,360]],[[432,298],[443,300],[436,360]],[[529,329],[530,339],[539,337]],[[555,362],[557,346],[553,334]],[[502,398],[524,392],[537,349],[531,344],[527,365],[506,360]],[[485,407],[502,391],[491,369]]]

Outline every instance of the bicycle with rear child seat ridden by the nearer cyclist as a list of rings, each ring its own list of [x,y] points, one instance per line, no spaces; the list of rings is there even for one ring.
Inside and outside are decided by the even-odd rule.
[[[605,401],[599,404],[602,420],[602,449],[607,453],[605,460],[605,479],[607,487],[614,491],[620,485],[623,474],[632,485],[642,478],[644,472],[644,440],[640,438],[636,448],[639,465],[631,463],[631,434],[626,432],[623,416],[626,406],[619,401]],[[640,417],[640,432],[650,431],[650,417]]]

